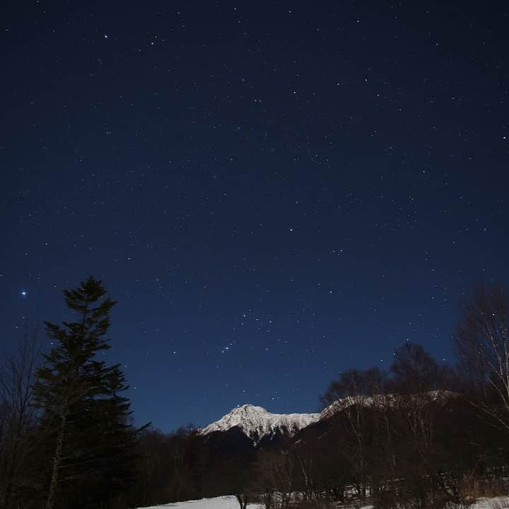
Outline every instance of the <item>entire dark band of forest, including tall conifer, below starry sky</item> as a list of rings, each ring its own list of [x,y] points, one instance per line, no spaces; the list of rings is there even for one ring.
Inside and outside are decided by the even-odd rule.
[[[92,277],[64,292],[73,321],[26,332],[0,370],[0,509],[122,509],[233,494],[239,507],[463,508],[508,493],[509,297],[461,304],[454,363],[419,344],[339,373],[323,419],[256,446],[242,433],[136,427],[119,364],[100,353],[115,301]],[[451,328],[454,324],[451,324]],[[360,505],[359,505],[360,506]]]

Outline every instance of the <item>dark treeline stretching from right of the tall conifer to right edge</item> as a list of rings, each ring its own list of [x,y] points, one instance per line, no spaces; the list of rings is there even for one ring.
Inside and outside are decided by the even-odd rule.
[[[390,369],[351,369],[322,394],[324,419],[253,447],[242,433],[192,430],[139,437],[139,505],[235,493],[267,509],[460,508],[508,493],[509,300],[478,291],[462,305],[457,361],[419,344]]]

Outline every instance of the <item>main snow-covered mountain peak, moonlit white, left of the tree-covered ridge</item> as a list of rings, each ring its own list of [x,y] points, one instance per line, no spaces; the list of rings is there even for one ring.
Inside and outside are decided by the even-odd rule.
[[[228,431],[236,426],[256,445],[262,438],[270,438],[276,433],[293,436],[320,418],[321,414],[272,414],[262,406],[245,404],[235,407],[218,421],[201,428],[200,433],[208,435],[214,431]]]

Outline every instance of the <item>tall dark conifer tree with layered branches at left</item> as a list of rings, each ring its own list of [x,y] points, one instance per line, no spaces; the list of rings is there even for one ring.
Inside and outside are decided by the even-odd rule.
[[[93,277],[64,296],[75,318],[46,322],[54,347],[35,383],[41,424],[49,430],[46,509],[57,501],[96,507],[127,488],[135,435],[129,400],[120,395],[127,389],[122,370],[98,358],[110,348],[105,334],[115,302]]]

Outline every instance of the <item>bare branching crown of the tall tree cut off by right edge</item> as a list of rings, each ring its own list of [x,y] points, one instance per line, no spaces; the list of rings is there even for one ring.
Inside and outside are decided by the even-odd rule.
[[[509,431],[509,296],[478,288],[463,303],[454,334],[469,401]]]

